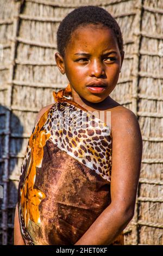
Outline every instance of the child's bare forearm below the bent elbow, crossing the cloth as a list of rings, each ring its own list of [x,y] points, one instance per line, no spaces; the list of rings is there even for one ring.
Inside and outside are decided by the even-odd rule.
[[[110,245],[133,216],[109,205],[75,245]]]

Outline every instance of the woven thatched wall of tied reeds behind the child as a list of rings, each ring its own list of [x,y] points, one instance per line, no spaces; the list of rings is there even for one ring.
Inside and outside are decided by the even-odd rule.
[[[13,242],[18,179],[36,114],[54,102],[54,88],[67,84],[54,62],[59,22],[87,4],[108,10],[122,29],[126,54],[111,96],[136,114],[143,137],[135,215],[124,230],[125,244],[163,245],[162,0],[0,0],[0,185],[4,189],[0,236],[4,245]]]

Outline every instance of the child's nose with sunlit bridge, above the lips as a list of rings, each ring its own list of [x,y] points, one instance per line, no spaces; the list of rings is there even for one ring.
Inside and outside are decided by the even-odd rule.
[[[90,63],[90,76],[100,77],[105,74],[103,63],[100,60],[93,60]]]

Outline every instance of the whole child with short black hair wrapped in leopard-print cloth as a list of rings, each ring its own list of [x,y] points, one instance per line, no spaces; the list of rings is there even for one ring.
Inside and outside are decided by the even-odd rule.
[[[120,27],[103,8],[80,7],[60,23],[57,43],[69,83],[53,92],[55,103],[41,109],[30,136],[15,245],[123,245],[142,137],[135,114],[109,96],[124,57]]]

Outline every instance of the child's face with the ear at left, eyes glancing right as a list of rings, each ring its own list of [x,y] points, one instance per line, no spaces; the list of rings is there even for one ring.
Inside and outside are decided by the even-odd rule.
[[[120,74],[123,54],[117,45],[114,32],[99,25],[79,27],[73,32],[65,49],[65,57],[58,53],[55,60],[70,82],[73,99],[84,98],[101,102],[114,90]],[[89,90],[91,82],[103,82],[105,88]],[[96,84],[97,85],[97,84]],[[100,85],[99,85],[100,86]],[[95,88],[95,87],[94,87]]]

